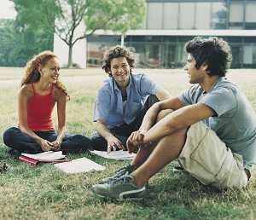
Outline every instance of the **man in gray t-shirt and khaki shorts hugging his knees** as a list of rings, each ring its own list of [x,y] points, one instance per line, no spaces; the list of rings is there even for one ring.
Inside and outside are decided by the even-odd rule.
[[[148,179],[173,159],[203,184],[247,186],[256,159],[256,116],[246,96],[225,78],[230,47],[223,39],[194,38],[186,51],[184,69],[193,85],[149,108],[127,140],[129,152],[139,149],[129,171],[124,167],[96,184],[96,194],[143,197]]]

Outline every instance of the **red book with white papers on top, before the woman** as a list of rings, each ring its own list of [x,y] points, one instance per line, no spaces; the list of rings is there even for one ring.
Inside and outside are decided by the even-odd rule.
[[[61,163],[69,161],[66,158],[66,155],[62,154],[62,151],[47,151],[44,153],[21,153],[19,157],[20,161],[30,164],[30,165],[38,165],[38,163]]]

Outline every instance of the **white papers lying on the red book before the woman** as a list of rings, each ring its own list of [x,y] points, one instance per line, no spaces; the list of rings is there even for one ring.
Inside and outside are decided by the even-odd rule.
[[[46,151],[44,153],[21,153],[21,155],[26,156],[28,158],[32,159],[38,159],[39,161],[43,162],[52,162],[55,161],[56,159],[63,159],[65,158],[65,155],[62,154],[62,151]]]

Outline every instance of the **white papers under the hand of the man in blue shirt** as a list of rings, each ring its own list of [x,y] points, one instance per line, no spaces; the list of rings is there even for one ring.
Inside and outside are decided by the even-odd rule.
[[[128,151],[123,151],[123,150],[112,151],[110,153],[106,151],[93,150],[93,151],[90,151],[90,153],[101,156],[102,158],[116,159],[116,160],[133,159],[136,156],[136,153],[128,153]]]

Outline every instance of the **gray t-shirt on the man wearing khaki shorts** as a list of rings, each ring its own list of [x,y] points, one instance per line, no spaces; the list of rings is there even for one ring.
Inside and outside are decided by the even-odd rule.
[[[218,78],[206,93],[199,84],[178,96],[185,105],[204,103],[215,112],[204,123],[214,130],[233,153],[241,154],[251,171],[256,160],[256,115],[247,97],[226,78]]]

